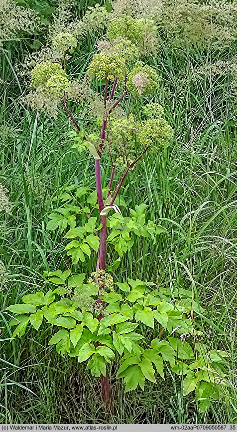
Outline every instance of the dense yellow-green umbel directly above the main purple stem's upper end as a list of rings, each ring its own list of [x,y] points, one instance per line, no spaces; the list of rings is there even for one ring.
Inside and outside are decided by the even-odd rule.
[[[106,76],[109,80],[114,80],[117,75],[122,80],[124,66],[124,59],[119,53],[102,51],[99,54],[94,54],[88,74],[100,80],[105,79]]]

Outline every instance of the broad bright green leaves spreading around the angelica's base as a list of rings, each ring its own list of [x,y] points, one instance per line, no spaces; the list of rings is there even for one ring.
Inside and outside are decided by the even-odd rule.
[[[137,208],[135,215],[141,217],[142,214],[142,209]],[[72,277],[68,270],[50,272],[48,276],[51,283],[61,285],[64,281],[65,286],[66,279]],[[75,275],[74,289],[79,283],[88,290],[88,284],[83,284],[84,277]],[[98,287],[102,282],[99,281]],[[68,297],[60,300],[57,288],[55,294],[49,290],[45,295],[42,291],[25,295],[23,304],[7,308],[18,314],[9,323],[10,326],[18,324],[12,337],[23,336],[29,324],[38,331],[46,320],[56,329],[61,327],[53,334],[49,345],[55,345],[62,356],[78,357],[79,363],[87,362],[92,376],[106,376],[108,365],[116,358],[120,363],[117,377],[123,379],[126,392],[137,386],[144,389],[145,380],[157,383],[158,377],[165,379],[165,369],[171,369],[174,374],[185,376],[184,396],[196,390],[200,412],[205,412],[213,399],[224,397],[229,387],[225,369],[227,353],[220,350],[208,353],[202,344],[198,346],[199,353],[196,351],[193,338],[201,332],[195,328],[196,322],[187,317],[185,307],[170,303],[159,288],[153,289],[153,284],[138,279],[128,279],[117,285],[120,293],[108,293],[104,285],[104,293],[100,295],[104,317],[100,321],[97,307],[91,312],[88,307],[78,308]],[[91,297],[96,306],[97,290]],[[154,339],[149,342],[140,334],[142,328],[144,334],[150,329],[149,340],[152,336]],[[187,338],[189,342],[184,340]]]

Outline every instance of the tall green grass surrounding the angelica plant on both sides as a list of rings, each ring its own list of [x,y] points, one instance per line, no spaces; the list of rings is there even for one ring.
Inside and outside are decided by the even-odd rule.
[[[92,49],[88,41],[77,53],[78,68],[86,67]],[[147,204],[148,218],[162,222],[168,234],[153,246],[136,240],[114,274],[118,280],[138,277],[171,290],[192,290],[208,317],[199,320],[203,342],[208,349],[231,353],[230,400],[213,404],[201,415],[192,396],[183,398],[181,382],[170,372],[165,382],[129,394],[113,378],[114,400],[106,410],[97,381],[75,359],[69,363],[47,346],[46,327],[13,341],[7,327],[0,334],[1,423],[237,423],[237,136],[228,98],[232,78],[190,79],[194,66],[210,57],[228,58],[235,49],[213,51],[210,46],[207,53],[164,43],[151,58],[163,78],[162,102],[176,141],[162,154],[145,156],[121,195],[128,208]],[[12,216],[0,220],[0,259],[9,274],[0,294],[2,311],[9,302],[44,288],[45,269],[63,269],[62,238],[46,230],[47,215],[57,206],[61,188],[94,182],[91,159],[71,148],[64,113],[51,121],[22,105],[25,90],[9,52],[2,62],[6,84],[0,125],[10,127],[16,137],[8,133],[0,144],[0,182],[12,202]],[[139,101],[132,109],[139,109]],[[104,168],[106,184],[106,163]],[[86,270],[94,270],[93,261]],[[3,312],[0,316],[5,328],[8,317]]]

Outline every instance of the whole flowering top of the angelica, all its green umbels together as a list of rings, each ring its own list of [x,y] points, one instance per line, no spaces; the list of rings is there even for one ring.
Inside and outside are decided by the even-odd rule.
[[[151,32],[155,37],[156,28],[151,24]],[[47,60],[36,65],[31,72],[31,87],[34,91],[30,95],[31,106],[33,99],[37,101],[37,109],[43,104],[48,108],[51,104],[54,114],[59,104],[66,107],[66,101],[73,99],[73,87],[87,87],[80,102],[91,107],[90,117],[93,114],[98,126],[94,131],[93,144],[90,144],[94,148],[93,155],[95,152],[100,154],[102,146],[120,167],[132,168],[142,148],[144,152],[148,148],[156,151],[158,147],[168,145],[173,138],[172,128],[163,118],[163,108],[152,102],[158,96],[161,80],[156,70],[144,61],[146,30],[147,21],[143,17],[134,18],[126,14],[115,16],[108,23],[106,37],[97,43],[98,52],[92,56],[84,78],[71,82],[66,74],[67,58],[77,49],[79,41],[68,31],[59,32],[52,39],[52,46],[63,53],[62,63]],[[151,49],[148,51],[152,52]],[[95,90],[98,80],[105,85],[103,97]],[[113,86],[116,87],[116,93],[109,98]],[[118,102],[115,94],[120,94]],[[136,114],[127,115],[120,108],[122,99],[125,101],[127,97],[138,100],[142,117],[137,110]],[[107,127],[102,143],[100,128],[103,122],[106,122]],[[79,150],[80,139],[82,137],[76,137],[77,145],[74,146]],[[87,139],[84,136],[81,151],[87,148],[85,141]]]

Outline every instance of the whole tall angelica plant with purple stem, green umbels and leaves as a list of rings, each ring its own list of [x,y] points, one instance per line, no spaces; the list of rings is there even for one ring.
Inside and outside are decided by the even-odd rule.
[[[115,249],[110,268],[116,271],[135,237],[155,243],[157,236],[167,234],[164,226],[146,220],[144,203],[137,203],[125,216],[118,196],[126,176],[144,155],[153,152],[162,156],[174,136],[163,108],[151,101],[159,95],[161,79],[140,57],[146,22],[126,15],[116,20],[109,23],[107,38],[98,43],[99,52],[93,55],[84,77],[89,103],[95,94],[94,81],[103,83],[103,94],[93,99],[100,110],[90,133],[86,121],[82,129],[73,113],[67,59],[76,49],[74,36],[60,33],[52,41],[62,53],[62,64],[48,60],[31,73],[35,97],[61,106],[72,123],[73,147],[94,158],[96,190],[72,185],[62,192],[63,204],[49,215],[47,229],[64,235],[64,250],[72,266],[46,271],[44,276],[53,289],[25,295],[22,304],[7,307],[16,314],[10,321],[10,326],[15,326],[12,337],[23,336],[28,325],[39,331],[43,321],[53,329],[59,327],[49,345],[55,345],[62,356],[86,362],[92,376],[101,378],[102,399],[107,404],[111,399],[108,365],[117,358],[117,378],[123,380],[126,391],[138,386],[144,389],[145,379],[153,383],[164,379],[169,369],[185,375],[184,396],[196,391],[200,410],[205,412],[213,399],[228,394],[229,384],[227,353],[207,353],[205,345],[198,342],[202,332],[193,317],[204,310],[188,292],[180,300],[177,293],[163,292],[153,282],[128,278],[115,283],[108,271],[108,244]],[[133,98],[139,101],[140,112],[126,114],[122,108]],[[106,187],[101,175],[105,156],[110,171]],[[83,218],[86,222],[81,224]],[[93,254],[97,254],[93,273],[89,278],[86,271],[78,274],[78,262],[84,263]],[[172,295],[176,301],[171,300]]]

